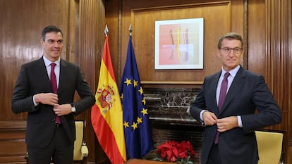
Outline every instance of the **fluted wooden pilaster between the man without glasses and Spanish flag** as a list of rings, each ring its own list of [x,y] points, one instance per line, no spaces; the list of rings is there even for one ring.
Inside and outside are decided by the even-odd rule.
[[[83,70],[85,79],[87,79],[92,92],[95,94],[104,45],[104,3],[96,0],[80,0],[78,5],[79,21],[75,24],[78,29],[78,37],[76,38],[78,49],[76,50],[75,60]],[[85,138],[90,152],[88,160],[99,163],[104,160],[105,155],[92,129],[90,113],[91,110],[87,110],[80,113],[76,118],[87,120]]]

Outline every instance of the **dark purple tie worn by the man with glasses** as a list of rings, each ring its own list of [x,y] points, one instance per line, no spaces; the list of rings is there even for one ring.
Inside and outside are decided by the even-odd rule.
[[[218,111],[220,112],[222,105],[225,101],[225,97],[226,97],[226,92],[227,92],[227,84],[228,84],[228,80],[227,77],[229,77],[230,73],[226,72],[224,74],[224,79],[222,80],[221,83],[221,89],[220,89],[220,94],[219,94],[219,102],[218,102]],[[219,139],[219,132],[217,132],[216,137],[215,137],[215,144],[218,144],[218,139]]]

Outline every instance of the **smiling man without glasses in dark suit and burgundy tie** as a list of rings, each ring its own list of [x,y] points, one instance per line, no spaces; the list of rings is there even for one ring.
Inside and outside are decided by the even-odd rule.
[[[28,112],[30,164],[49,164],[51,158],[55,164],[72,164],[74,115],[91,108],[95,96],[78,65],[61,59],[63,34],[58,27],[45,27],[41,44],[44,55],[21,66],[11,108],[13,113]],[[56,65],[54,70],[51,65]],[[73,102],[75,90],[80,96],[77,102]]]

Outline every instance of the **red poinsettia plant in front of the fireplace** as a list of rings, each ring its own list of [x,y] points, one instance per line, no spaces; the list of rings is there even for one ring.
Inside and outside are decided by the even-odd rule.
[[[192,159],[197,156],[190,141],[166,141],[157,147],[156,153],[154,160],[181,164],[193,164]]]

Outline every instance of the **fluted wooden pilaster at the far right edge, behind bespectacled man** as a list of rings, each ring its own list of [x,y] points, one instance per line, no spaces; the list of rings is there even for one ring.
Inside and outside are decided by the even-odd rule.
[[[292,144],[291,131],[291,0],[265,1],[266,11],[266,71],[265,77],[274,98],[283,113],[281,125],[276,129],[288,130],[288,141]]]

